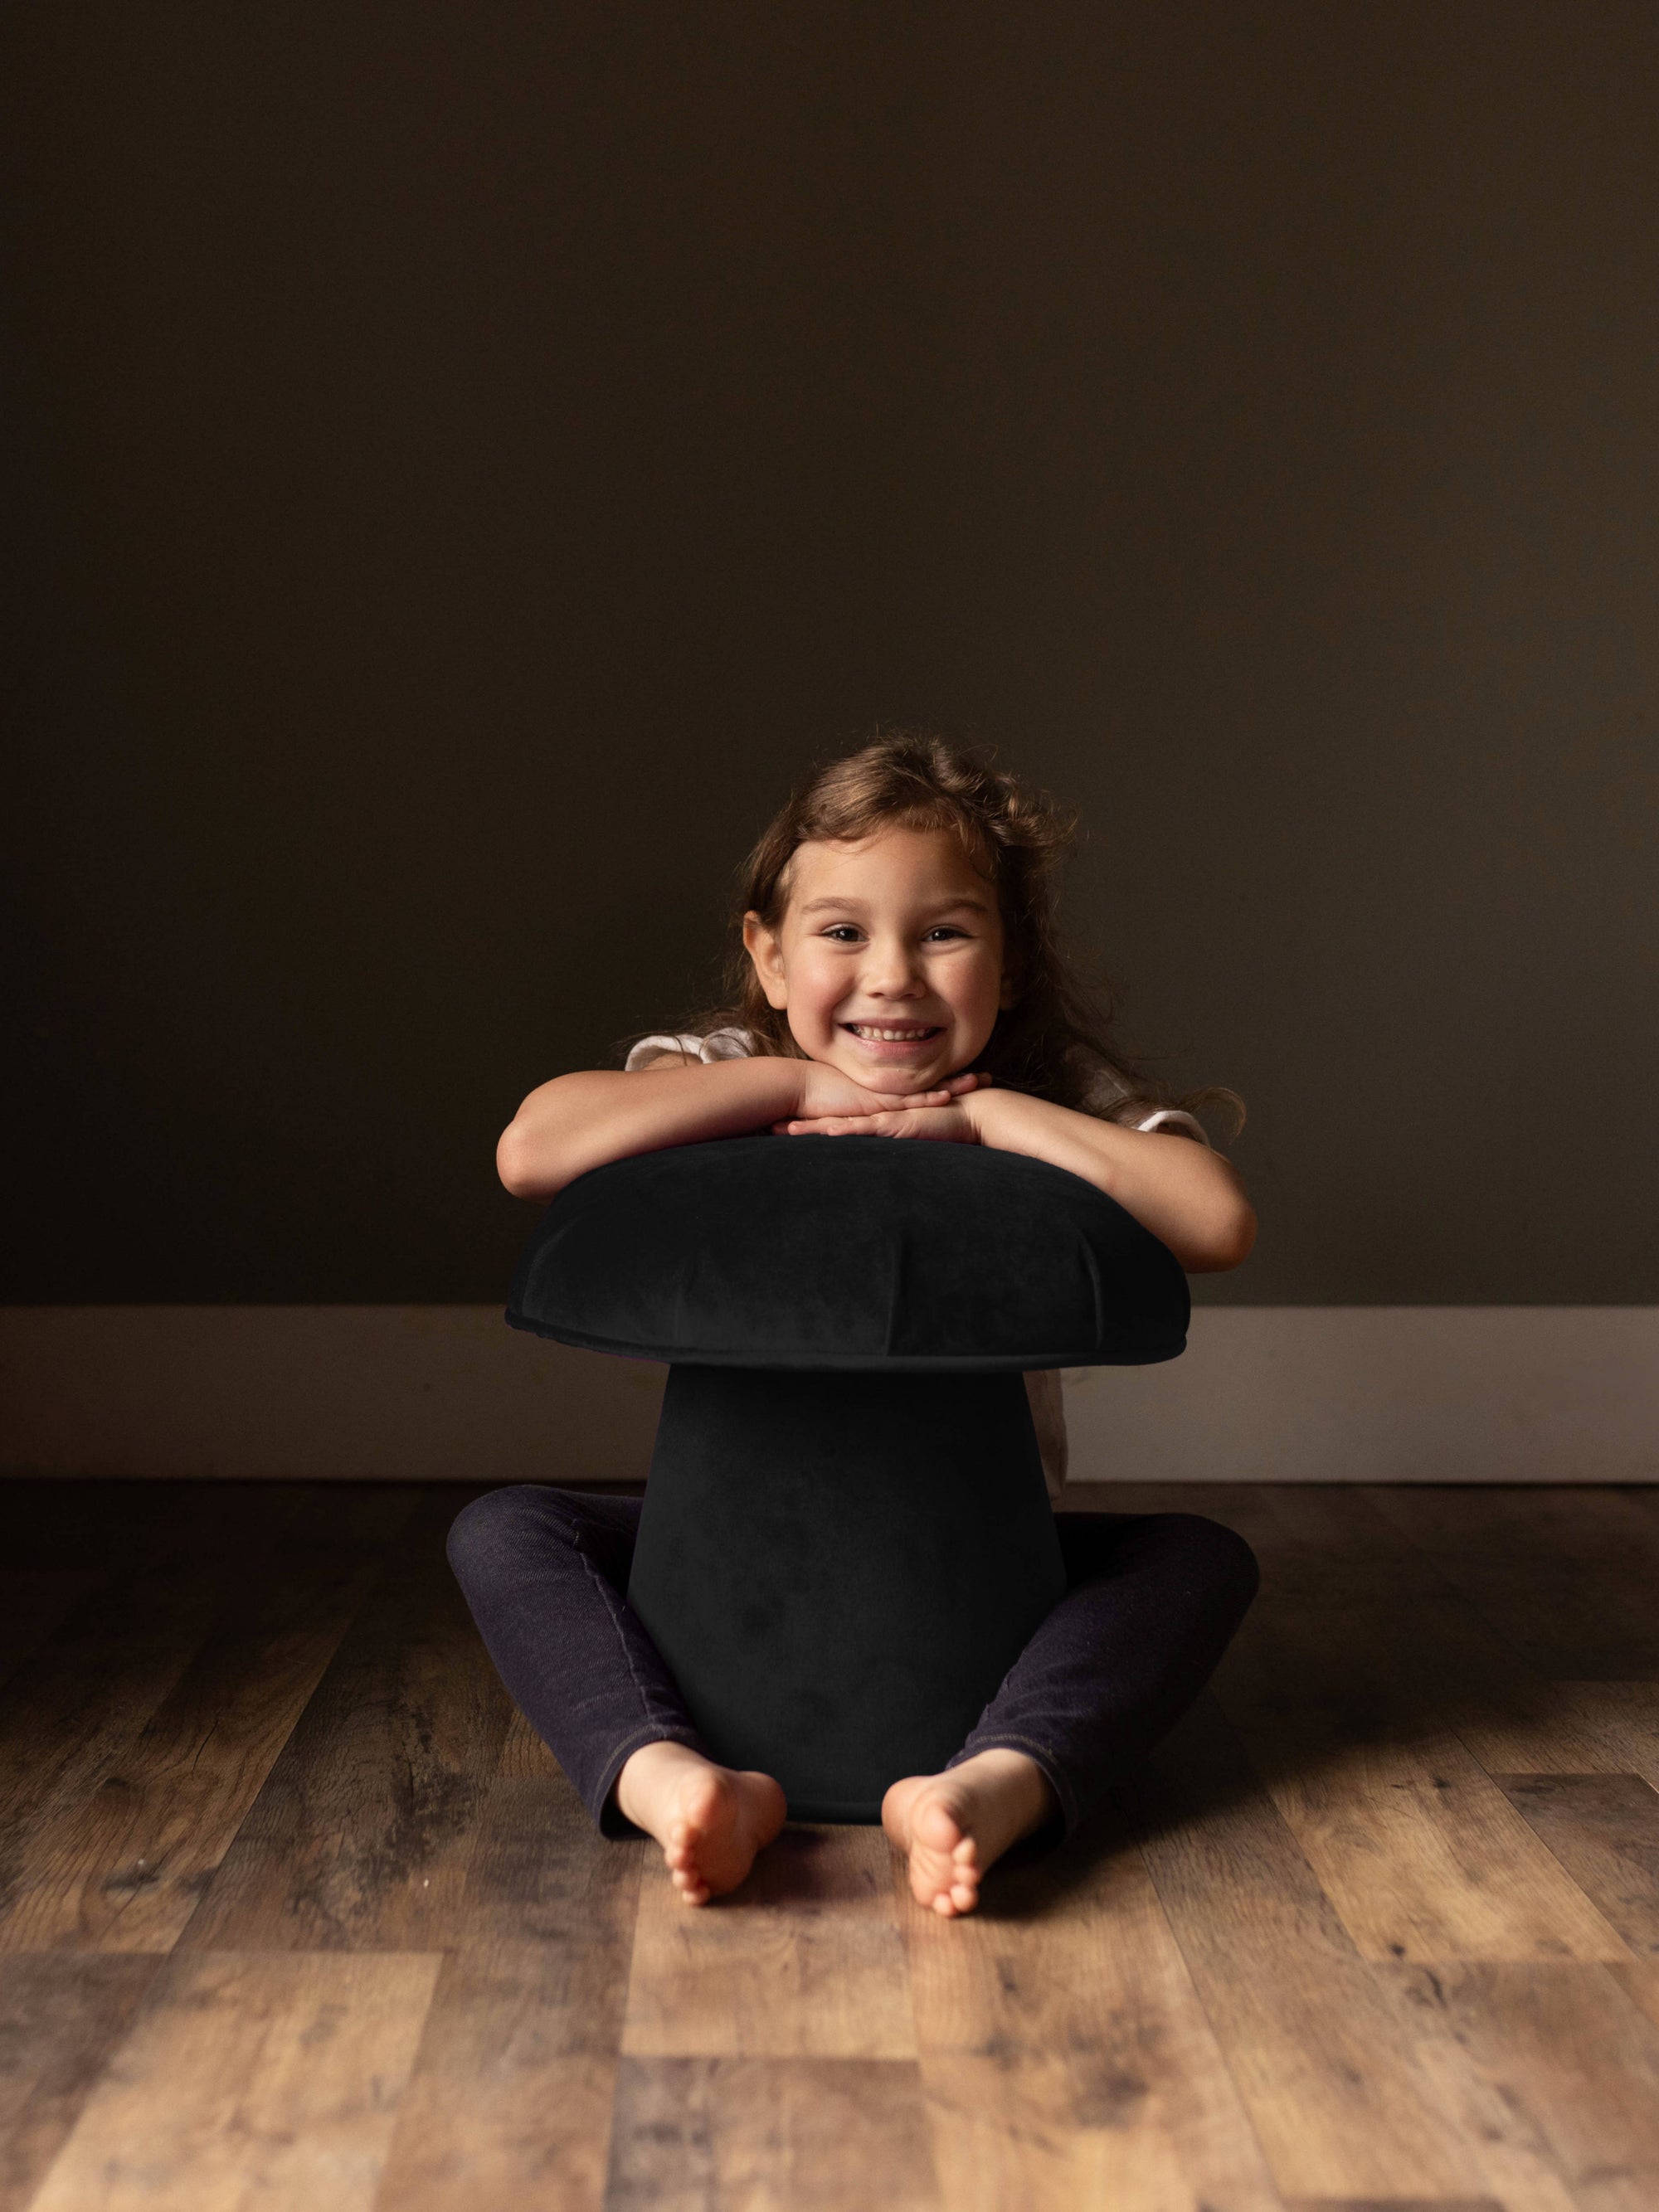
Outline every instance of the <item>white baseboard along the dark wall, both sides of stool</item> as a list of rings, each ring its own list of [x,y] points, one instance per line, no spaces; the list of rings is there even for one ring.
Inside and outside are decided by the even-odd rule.
[[[493,1305],[13,1305],[0,1473],[628,1482],[661,1378]],[[1206,1307],[1066,1407],[1073,1482],[1655,1482],[1659,1307]]]

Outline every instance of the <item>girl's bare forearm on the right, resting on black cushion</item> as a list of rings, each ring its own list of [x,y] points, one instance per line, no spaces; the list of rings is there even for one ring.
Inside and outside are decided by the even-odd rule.
[[[1166,1243],[1188,1274],[1237,1267],[1256,1239],[1237,1172],[1190,1137],[1097,1121],[1022,1091],[973,1091],[962,1106],[980,1144],[1082,1175]]]

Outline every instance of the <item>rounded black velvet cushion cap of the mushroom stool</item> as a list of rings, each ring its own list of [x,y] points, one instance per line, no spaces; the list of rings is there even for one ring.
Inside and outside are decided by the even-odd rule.
[[[732,1137],[549,1208],[513,1327],[697,1367],[1124,1367],[1186,1345],[1186,1276],[1093,1183],[1018,1152]]]

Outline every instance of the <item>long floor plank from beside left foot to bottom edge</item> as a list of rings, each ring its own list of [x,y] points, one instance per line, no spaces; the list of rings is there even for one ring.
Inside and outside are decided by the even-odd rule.
[[[648,1856],[597,1836],[557,1770],[495,1781],[378,2212],[597,2212]]]

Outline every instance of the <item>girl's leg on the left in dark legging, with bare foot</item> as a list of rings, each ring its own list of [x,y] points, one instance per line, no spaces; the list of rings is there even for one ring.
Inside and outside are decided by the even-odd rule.
[[[476,1498],[449,1564],[495,1670],[606,1836],[648,1829],[690,1902],[737,1887],[783,1825],[765,1774],[717,1767],[626,1601],[637,1498]]]

